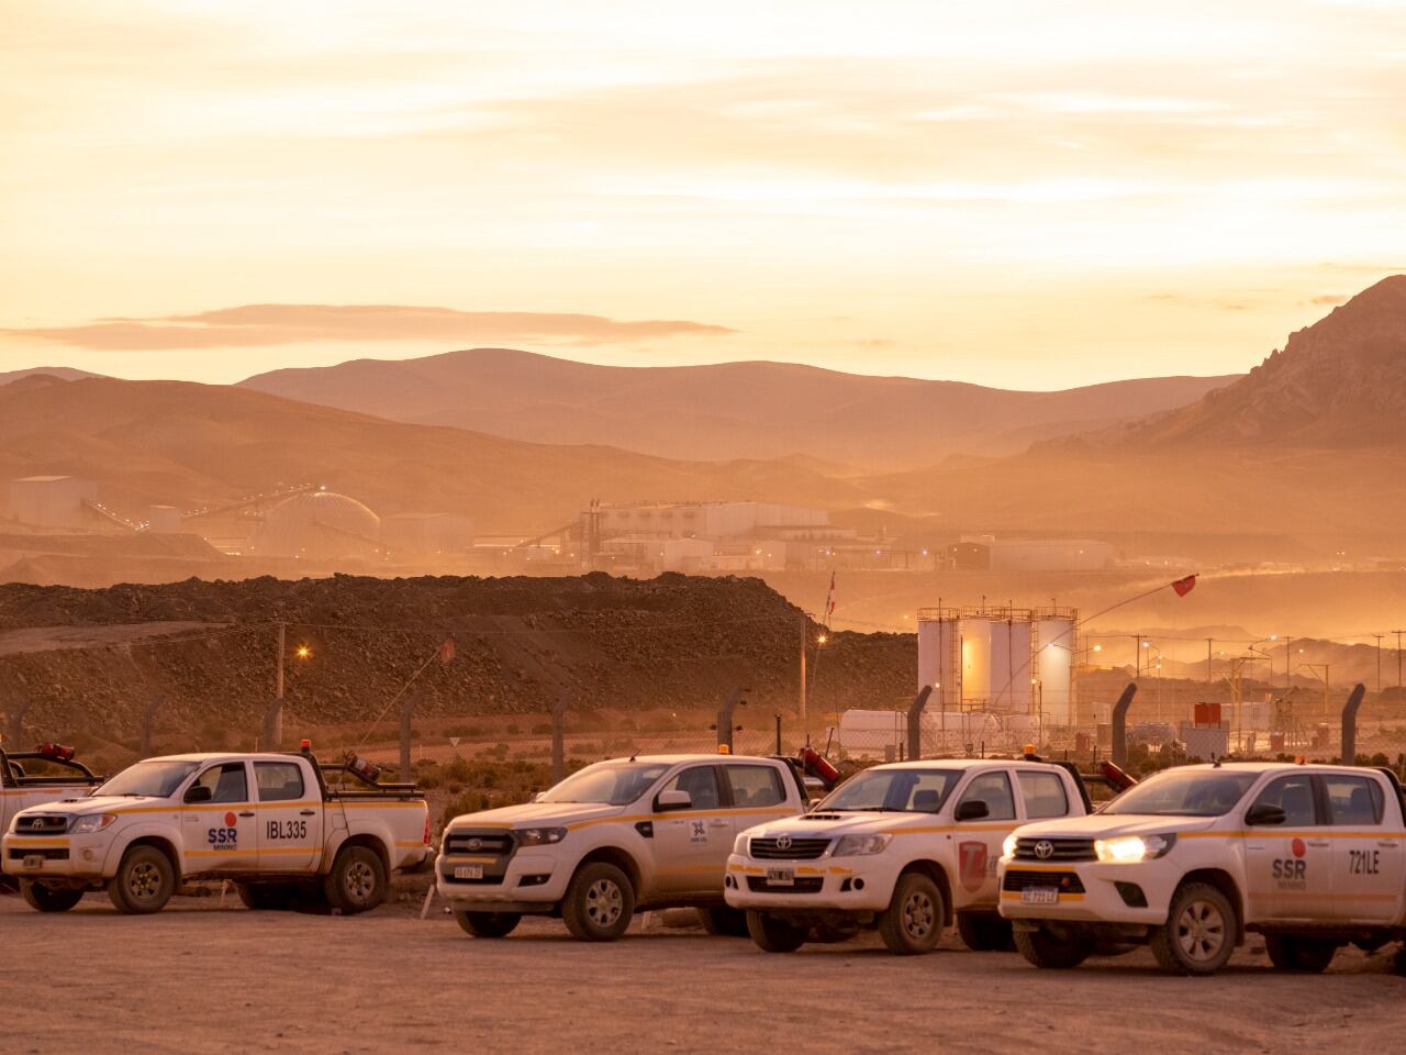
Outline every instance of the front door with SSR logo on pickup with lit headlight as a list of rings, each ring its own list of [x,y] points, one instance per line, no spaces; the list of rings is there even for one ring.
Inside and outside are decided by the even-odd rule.
[[[1278,776],[1253,806],[1278,806],[1282,824],[1246,827],[1246,900],[1253,920],[1302,920],[1331,914],[1333,840],[1319,809],[1313,775]]]

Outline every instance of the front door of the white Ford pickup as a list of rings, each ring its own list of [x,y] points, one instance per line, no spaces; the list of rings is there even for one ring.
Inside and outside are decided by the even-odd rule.
[[[718,767],[690,765],[671,776],[661,792],[685,791],[686,810],[655,812],[655,882],[668,896],[721,895],[723,871],[733,850],[733,820],[723,809]]]

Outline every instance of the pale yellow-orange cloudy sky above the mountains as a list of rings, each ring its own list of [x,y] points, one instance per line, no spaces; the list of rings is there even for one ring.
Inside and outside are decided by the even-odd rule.
[[[0,369],[494,343],[1059,388],[1244,370],[1406,270],[1385,0],[0,20]]]

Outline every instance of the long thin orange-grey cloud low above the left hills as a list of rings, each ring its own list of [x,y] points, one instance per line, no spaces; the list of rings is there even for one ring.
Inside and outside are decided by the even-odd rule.
[[[0,329],[94,352],[263,347],[319,340],[561,342],[605,345],[734,331],[686,319],[620,321],[603,315],[456,311],[399,304],[245,304],[194,315],[104,318],[77,326]]]

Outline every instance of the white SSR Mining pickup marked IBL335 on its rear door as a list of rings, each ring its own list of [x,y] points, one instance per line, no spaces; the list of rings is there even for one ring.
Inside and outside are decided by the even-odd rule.
[[[335,774],[356,786],[330,788]],[[356,913],[382,900],[392,869],[427,854],[429,810],[413,786],[311,753],[148,758],[87,798],[20,812],[0,841],[0,865],[41,912],[105,886],[120,912],[152,913],[183,879],[232,879],[252,909],[315,889]]]

